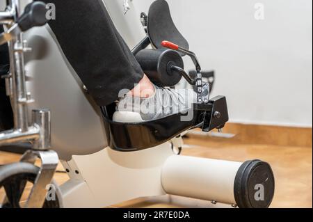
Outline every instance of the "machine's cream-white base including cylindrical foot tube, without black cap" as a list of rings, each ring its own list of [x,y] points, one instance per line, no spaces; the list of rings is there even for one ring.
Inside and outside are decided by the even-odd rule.
[[[139,152],[109,148],[63,162],[70,180],[61,186],[65,207],[106,207],[166,193],[234,204],[242,163],[177,156],[170,143]]]

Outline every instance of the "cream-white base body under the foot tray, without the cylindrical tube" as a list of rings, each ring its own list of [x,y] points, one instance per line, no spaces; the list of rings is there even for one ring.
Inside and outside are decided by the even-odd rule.
[[[70,180],[61,186],[64,207],[106,207],[145,196],[162,196],[164,162],[173,155],[170,143],[139,152],[106,148],[63,162]]]

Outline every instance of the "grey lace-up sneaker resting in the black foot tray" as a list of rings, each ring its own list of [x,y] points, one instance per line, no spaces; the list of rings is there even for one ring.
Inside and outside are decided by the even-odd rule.
[[[190,89],[174,90],[158,86],[154,88],[154,95],[147,99],[126,95],[116,106],[117,114],[136,113],[143,121],[151,121],[172,114],[186,113],[197,101],[197,94]]]

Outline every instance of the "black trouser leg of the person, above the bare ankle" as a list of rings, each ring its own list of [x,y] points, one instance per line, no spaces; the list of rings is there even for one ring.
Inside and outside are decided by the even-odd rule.
[[[121,89],[132,89],[143,78],[102,0],[44,1],[55,4],[56,19],[49,26],[99,106],[111,104]]]

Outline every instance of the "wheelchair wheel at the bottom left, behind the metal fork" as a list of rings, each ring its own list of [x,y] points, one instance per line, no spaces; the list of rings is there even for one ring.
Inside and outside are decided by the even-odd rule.
[[[28,163],[16,163],[0,167],[0,208],[22,208],[26,203],[31,187],[35,182],[40,168]],[[42,208],[61,208],[62,196],[61,191],[52,181],[49,187],[49,193],[53,197],[48,200]],[[3,203],[4,198],[7,201]]]

